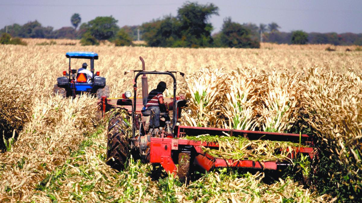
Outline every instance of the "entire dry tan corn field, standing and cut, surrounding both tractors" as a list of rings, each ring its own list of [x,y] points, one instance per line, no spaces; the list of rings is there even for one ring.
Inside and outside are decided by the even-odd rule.
[[[362,52],[268,43],[260,49],[83,47],[76,40],[37,45],[47,41],[0,46],[0,202],[361,201]],[[311,186],[288,174],[266,183],[263,171],[231,169],[184,185],[166,174],[152,180],[152,165],[133,159],[122,172],[111,169],[105,164],[106,121],[96,120],[96,99],[52,95],[56,78],[68,69],[69,51],[98,53],[95,69],[106,78],[110,97],[131,90],[133,75],[123,73],[142,68],[139,56],[147,70],[184,72],[185,78],[177,77],[177,93],[189,99],[184,125],[313,135],[320,154]],[[89,61],[72,60],[72,68],[83,62]],[[171,78],[157,75],[149,77],[149,87],[160,80],[172,86]],[[268,150],[249,152],[236,144],[243,140],[200,139],[223,143],[221,152],[210,152],[215,156],[274,158]]]

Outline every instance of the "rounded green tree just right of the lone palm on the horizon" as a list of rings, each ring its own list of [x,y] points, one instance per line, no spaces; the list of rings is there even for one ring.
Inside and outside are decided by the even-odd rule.
[[[108,40],[118,32],[117,22],[112,16],[96,17],[88,22],[88,31],[98,40]]]

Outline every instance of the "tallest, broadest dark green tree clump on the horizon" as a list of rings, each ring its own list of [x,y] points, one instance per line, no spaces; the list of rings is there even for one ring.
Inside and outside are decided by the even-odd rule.
[[[165,16],[142,24],[142,38],[152,47],[209,47],[212,45],[212,25],[208,20],[218,15],[214,4],[187,2],[177,11],[177,17]]]

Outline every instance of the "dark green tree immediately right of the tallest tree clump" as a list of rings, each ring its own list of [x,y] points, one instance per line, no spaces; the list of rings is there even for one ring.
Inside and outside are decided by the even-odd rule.
[[[251,30],[232,22],[230,17],[224,19],[220,41],[224,47],[260,48],[260,42],[252,39]]]

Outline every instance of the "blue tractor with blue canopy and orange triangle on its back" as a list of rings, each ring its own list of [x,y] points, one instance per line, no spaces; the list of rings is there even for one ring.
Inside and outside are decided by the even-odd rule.
[[[54,85],[54,95],[62,95],[63,98],[89,93],[96,95],[97,98],[102,96],[109,97],[109,87],[106,85],[106,78],[99,77],[100,72],[94,73],[94,60],[98,59],[98,54],[94,52],[67,52],[69,58],[69,69],[63,71],[63,77],[57,79]],[[91,75],[86,73],[77,73],[77,69],[71,69],[71,59],[90,59]]]

